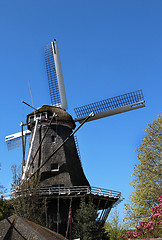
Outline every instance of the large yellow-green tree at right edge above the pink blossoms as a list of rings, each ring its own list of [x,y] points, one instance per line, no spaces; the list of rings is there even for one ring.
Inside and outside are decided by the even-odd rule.
[[[148,221],[152,207],[158,204],[162,194],[162,115],[148,124],[145,132],[146,136],[136,150],[139,163],[134,165],[130,183],[134,191],[125,204],[124,222],[129,227]]]

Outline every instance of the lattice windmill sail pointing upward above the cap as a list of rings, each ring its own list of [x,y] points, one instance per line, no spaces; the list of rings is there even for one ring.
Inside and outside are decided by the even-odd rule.
[[[65,86],[56,40],[45,46],[45,61],[51,103],[54,106],[67,109]]]

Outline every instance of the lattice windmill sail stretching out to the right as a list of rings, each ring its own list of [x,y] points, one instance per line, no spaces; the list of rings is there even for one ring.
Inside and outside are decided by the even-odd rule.
[[[95,116],[89,121],[108,117],[122,112],[145,107],[142,90],[126,93],[117,97],[102,100],[89,105],[75,108],[77,118],[74,121],[82,122],[92,111]]]

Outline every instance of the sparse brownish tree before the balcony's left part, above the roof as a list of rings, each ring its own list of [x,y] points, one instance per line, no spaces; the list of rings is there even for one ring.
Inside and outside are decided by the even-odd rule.
[[[21,169],[16,165],[11,167],[12,184],[11,190],[14,191],[11,204],[15,214],[24,217],[30,221],[46,225],[46,200],[39,196],[38,179],[32,179],[30,182],[21,184]]]

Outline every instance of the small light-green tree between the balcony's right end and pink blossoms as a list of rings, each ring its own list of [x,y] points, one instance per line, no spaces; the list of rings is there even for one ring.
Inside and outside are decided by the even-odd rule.
[[[119,212],[115,208],[114,212],[111,214],[110,219],[105,224],[106,232],[110,240],[119,240],[123,234],[124,227],[122,226],[119,219]]]

